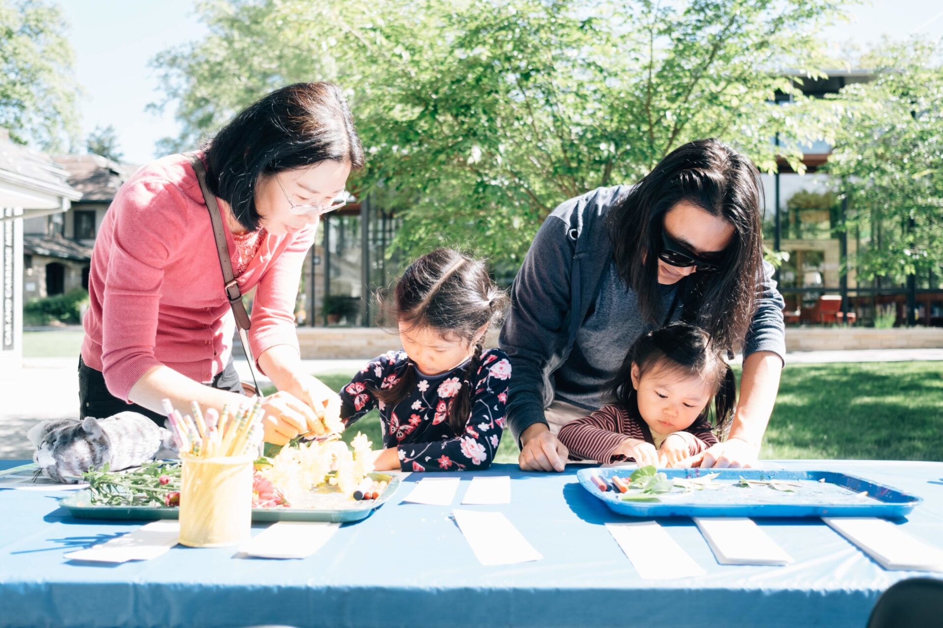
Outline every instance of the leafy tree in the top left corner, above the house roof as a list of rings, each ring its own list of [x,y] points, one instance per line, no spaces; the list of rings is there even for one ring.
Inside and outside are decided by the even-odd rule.
[[[21,144],[58,151],[77,136],[73,50],[58,7],[0,0],[0,127]]]

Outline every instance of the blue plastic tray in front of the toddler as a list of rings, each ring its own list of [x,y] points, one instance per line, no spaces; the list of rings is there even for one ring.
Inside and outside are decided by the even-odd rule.
[[[659,469],[669,478],[691,478],[719,474],[715,481],[729,484],[721,489],[653,495],[658,502],[622,501],[612,490],[613,475],[628,478],[634,467],[581,469],[576,476],[583,488],[615,512],[630,517],[886,517],[908,514],[922,498],[871,482],[856,475],[831,471],[764,471],[760,469]],[[600,491],[590,479],[598,475],[609,485]],[[768,486],[734,487],[740,478],[796,482],[795,492]],[[637,491],[630,491],[637,494]],[[863,494],[867,493],[867,494]]]

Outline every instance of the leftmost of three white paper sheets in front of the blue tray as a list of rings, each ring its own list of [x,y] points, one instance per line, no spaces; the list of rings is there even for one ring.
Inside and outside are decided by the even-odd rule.
[[[605,527],[643,578],[662,580],[705,573],[658,523],[606,523]]]

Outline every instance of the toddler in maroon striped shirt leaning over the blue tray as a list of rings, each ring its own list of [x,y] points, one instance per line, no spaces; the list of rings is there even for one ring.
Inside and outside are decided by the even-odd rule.
[[[681,466],[733,418],[736,378],[725,352],[687,323],[643,334],[610,382],[616,402],[566,424],[560,442],[574,460]]]

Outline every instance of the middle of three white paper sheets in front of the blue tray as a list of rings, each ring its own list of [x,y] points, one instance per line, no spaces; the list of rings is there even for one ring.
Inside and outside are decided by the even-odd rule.
[[[769,535],[746,517],[694,517],[721,565],[787,565],[786,554]]]

